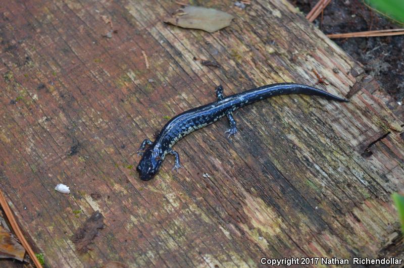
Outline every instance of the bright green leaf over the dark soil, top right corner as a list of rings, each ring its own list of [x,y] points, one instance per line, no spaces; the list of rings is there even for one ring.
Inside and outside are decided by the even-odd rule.
[[[381,14],[404,23],[404,4],[402,0],[365,0],[365,3]]]

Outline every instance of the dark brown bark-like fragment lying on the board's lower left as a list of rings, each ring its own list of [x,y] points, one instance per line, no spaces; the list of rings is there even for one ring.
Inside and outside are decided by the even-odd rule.
[[[88,218],[72,237],[73,243],[80,252],[87,252],[88,245],[92,243],[99,229],[103,229],[104,216],[97,210]]]

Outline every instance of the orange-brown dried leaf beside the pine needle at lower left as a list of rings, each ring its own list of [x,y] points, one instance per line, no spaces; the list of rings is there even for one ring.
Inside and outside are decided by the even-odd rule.
[[[0,258],[15,258],[22,261],[24,255],[24,247],[0,226]]]

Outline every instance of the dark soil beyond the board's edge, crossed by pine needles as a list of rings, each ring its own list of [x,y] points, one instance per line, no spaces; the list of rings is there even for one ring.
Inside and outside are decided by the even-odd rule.
[[[289,0],[305,14],[318,0]],[[333,0],[314,23],[325,33],[347,33],[402,28],[380,16],[359,0]],[[334,39],[350,56],[365,66],[394,99],[404,97],[404,35]]]

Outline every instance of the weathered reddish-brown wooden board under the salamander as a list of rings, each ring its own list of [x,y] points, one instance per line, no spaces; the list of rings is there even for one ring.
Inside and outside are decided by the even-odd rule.
[[[235,16],[213,34],[162,23],[174,2],[2,3],[0,185],[46,265],[390,254],[399,230],[390,194],[404,190],[402,122],[382,91],[368,90],[362,67],[294,7],[251,2],[195,3]],[[246,106],[231,141],[221,120],[175,146],[178,173],[167,157],[154,180],[138,179],[140,142],[214,101],[215,85],[225,94],[315,85],[312,69],[330,84],[318,87],[350,102],[292,95]],[[56,192],[58,183],[71,194]],[[105,228],[79,252],[72,237],[96,210]]]

